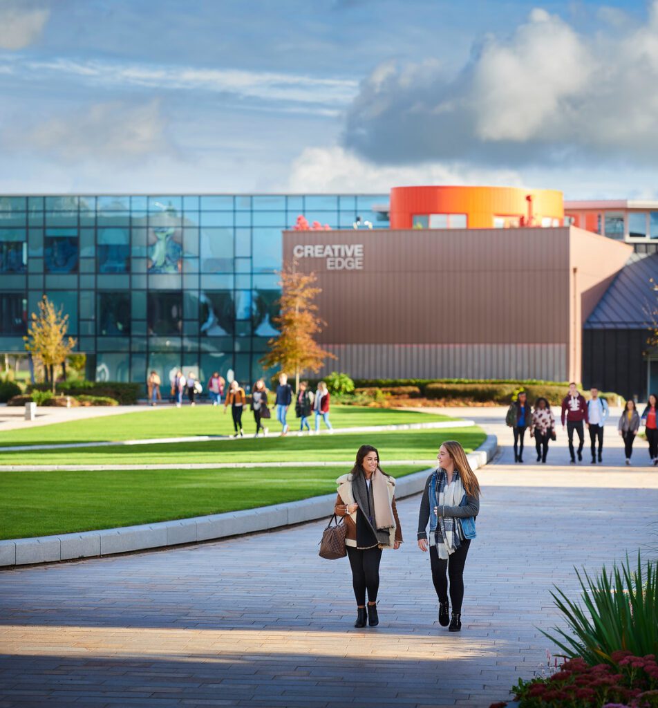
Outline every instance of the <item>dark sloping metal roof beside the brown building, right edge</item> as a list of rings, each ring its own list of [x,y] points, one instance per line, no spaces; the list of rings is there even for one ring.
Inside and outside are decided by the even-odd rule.
[[[658,253],[633,253],[617,274],[584,329],[649,329],[658,309]],[[654,314],[658,318],[658,315]]]

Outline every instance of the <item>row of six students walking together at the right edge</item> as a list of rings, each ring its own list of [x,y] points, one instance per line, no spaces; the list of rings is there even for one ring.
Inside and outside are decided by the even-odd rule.
[[[590,389],[590,399],[586,401],[578,391],[575,383],[569,384],[569,392],[562,399],[562,430],[567,432],[571,464],[582,461],[584,447],[584,428],[589,431],[591,463],[603,462],[604,425],[610,416],[608,401],[599,396],[599,389]],[[656,417],[656,394],[650,394],[649,402],[642,412],[637,412],[635,401],[626,401],[621,418],[617,424],[619,435],[624,441],[625,461],[630,465],[633,456],[633,442],[640,426],[645,427],[649,443],[650,464],[658,465],[658,424]],[[546,464],[548,441],[555,440],[555,416],[545,398],[538,398],[531,410],[526,392],[521,391],[516,400],[507,410],[505,423],[512,428],[514,434],[514,462],[523,462],[524,436],[530,430],[531,438],[535,439],[537,462]],[[574,438],[578,438],[578,447],[574,446]]]

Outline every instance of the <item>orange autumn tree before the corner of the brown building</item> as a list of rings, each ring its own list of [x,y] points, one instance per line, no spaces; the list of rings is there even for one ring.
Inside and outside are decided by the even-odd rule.
[[[325,359],[335,359],[314,338],[326,324],[318,317],[318,306],[313,303],[322,292],[316,286],[317,280],[315,273],[299,273],[296,261],[284,266],[279,282],[282,288],[280,314],[274,318],[281,333],[267,342],[270,351],[260,360],[266,367],[294,372],[295,390],[299,390],[300,372],[318,372]]]

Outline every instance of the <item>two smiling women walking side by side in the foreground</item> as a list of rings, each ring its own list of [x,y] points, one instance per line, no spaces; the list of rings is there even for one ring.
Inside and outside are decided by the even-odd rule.
[[[446,440],[437,459],[439,465],[427,477],[420,501],[417,543],[422,552],[429,550],[432,583],[439,601],[439,624],[448,627],[449,632],[459,632],[463,570],[468,548],[475,538],[480,485],[458,442]],[[397,550],[403,542],[396,508],[396,481],[379,466],[376,447],[362,445],[352,470],[336,483],[334,512],[345,520],[345,546],[357,601],[354,627],[366,624],[376,627],[381,553],[383,549]]]

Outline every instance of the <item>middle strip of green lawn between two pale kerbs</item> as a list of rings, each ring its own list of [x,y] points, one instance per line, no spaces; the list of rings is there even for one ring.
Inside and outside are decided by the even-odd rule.
[[[36,429],[35,429],[36,430]],[[65,450],[0,452],[0,464],[189,464],[221,462],[304,462],[352,460],[360,445],[379,449],[387,459],[434,459],[444,440],[473,450],[485,440],[481,428],[335,433],[287,438],[238,438],[207,442],[110,445]],[[0,472],[0,475],[4,474]]]

